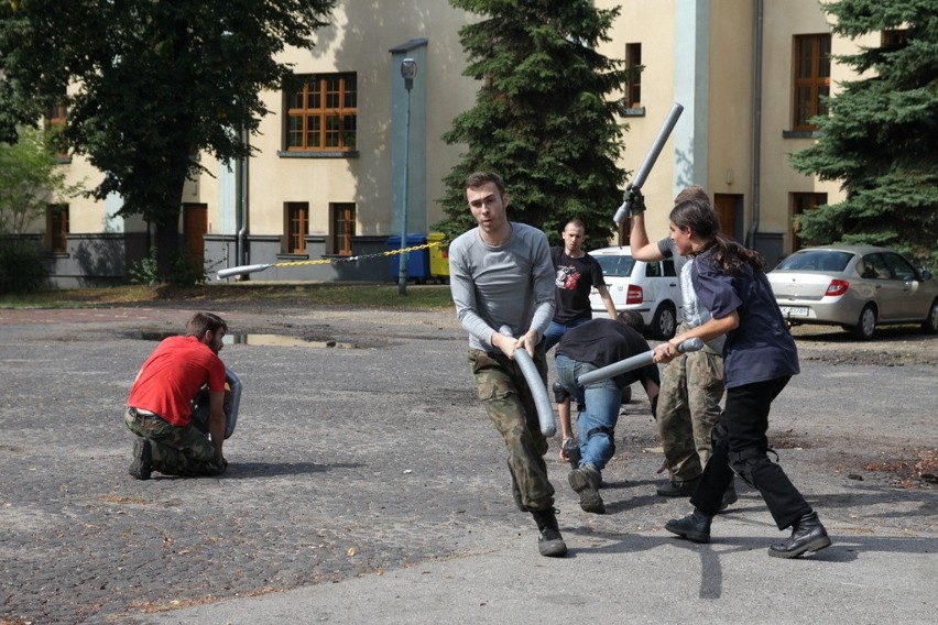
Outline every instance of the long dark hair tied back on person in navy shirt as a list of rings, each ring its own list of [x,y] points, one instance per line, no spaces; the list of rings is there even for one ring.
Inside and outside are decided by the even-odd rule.
[[[755,271],[765,268],[762,254],[720,233],[720,218],[700,187],[688,187],[677,196],[670,221],[678,228],[690,228],[704,241],[701,252],[713,249],[713,260],[728,274],[739,275],[743,265]]]

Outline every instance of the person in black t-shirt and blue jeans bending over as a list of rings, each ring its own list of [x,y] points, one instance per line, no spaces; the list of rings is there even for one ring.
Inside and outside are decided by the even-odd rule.
[[[577,385],[577,379],[596,369],[650,352],[652,348],[641,335],[643,326],[637,311],[623,310],[615,321],[593,319],[577,326],[564,335],[557,344],[555,365],[560,384],[585,406],[577,420],[579,459],[568,479],[570,486],[579,493],[580,507],[586,512],[606,512],[599,495],[602,481],[600,472],[615,452],[615,424],[619,420],[622,388],[633,382],[641,382],[654,413],[661,379],[655,364],[585,387]]]

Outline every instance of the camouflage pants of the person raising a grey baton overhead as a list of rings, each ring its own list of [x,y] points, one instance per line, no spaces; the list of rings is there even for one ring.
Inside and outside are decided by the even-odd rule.
[[[678,330],[680,331],[680,330]],[[662,372],[657,423],[672,479],[692,480],[710,460],[710,430],[720,417],[723,358],[705,348],[680,355]]]

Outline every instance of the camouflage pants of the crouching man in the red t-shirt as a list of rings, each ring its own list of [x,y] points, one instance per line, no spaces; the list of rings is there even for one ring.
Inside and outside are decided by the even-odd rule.
[[[151,468],[164,475],[218,475],[226,469],[215,447],[192,425],[176,427],[154,415],[127,408],[123,423],[137,436],[150,439]]]

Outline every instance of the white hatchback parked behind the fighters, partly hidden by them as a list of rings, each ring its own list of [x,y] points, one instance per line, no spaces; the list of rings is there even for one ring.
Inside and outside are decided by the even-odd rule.
[[[601,248],[589,254],[602,267],[602,276],[617,310],[641,312],[650,338],[667,340],[674,337],[681,319],[680,282],[674,261],[636,261],[628,245]],[[596,288],[590,293],[589,301],[593,310],[606,310]]]

